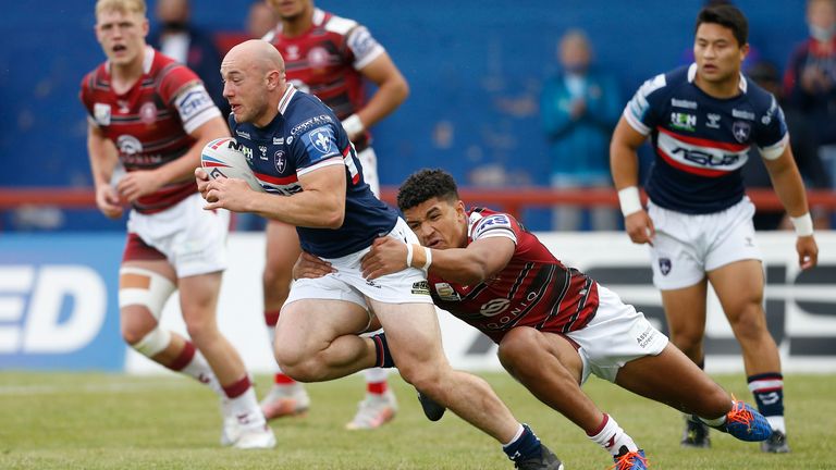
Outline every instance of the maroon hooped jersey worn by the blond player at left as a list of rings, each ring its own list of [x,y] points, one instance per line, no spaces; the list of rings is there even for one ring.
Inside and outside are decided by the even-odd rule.
[[[195,143],[189,133],[221,115],[200,78],[185,65],[148,47],[143,67],[143,76],[124,94],[111,87],[108,62],[82,81],[88,122],[113,141],[127,172],[179,159]],[[171,183],[138,198],[134,209],[159,212],[196,191],[194,178]]]

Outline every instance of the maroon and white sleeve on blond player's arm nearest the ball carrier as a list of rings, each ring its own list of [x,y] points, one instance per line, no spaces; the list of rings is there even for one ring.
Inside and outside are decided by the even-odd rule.
[[[187,67],[173,65],[160,81],[160,98],[176,109],[186,133],[192,134],[207,121],[221,115],[200,78]]]

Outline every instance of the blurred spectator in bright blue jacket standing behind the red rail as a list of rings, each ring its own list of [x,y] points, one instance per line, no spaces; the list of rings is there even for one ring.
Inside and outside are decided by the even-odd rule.
[[[612,187],[610,135],[624,106],[618,85],[613,76],[591,65],[591,46],[580,29],[571,29],[561,38],[557,59],[563,70],[546,81],[540,103],[549,139],[552,187]],[[590,213],[592,228],[617,228],[615,210],[595,208]],[[554,209],[555,230],[580,230],[581,222],[577,207]]]

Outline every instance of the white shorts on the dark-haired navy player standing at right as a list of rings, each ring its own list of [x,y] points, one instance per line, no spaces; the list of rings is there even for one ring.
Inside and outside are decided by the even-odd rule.
[[[686,214],[648,203],[656,236],[650,247],[653,284],[662,289],[692,286],[705,273],[735,261],[763,260],[754,237],[754,206],[748,197],[709,214]]]

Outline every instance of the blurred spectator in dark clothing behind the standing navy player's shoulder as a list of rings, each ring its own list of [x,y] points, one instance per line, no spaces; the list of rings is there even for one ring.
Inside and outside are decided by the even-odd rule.
[[[769,61],[761,61],[753,64],[749,73],[749,78],[760,85],[763,89],[771,92],[778,100],[785,109],[785,119],[789,134],[792,136],[790,139],[790,147],[792,148],[792,156],[796,159],[796,164],[804,178],[804,184],[809,188],[827,189],[831,187],[831,177],[819,158],[816,151],[814,137],[809,122],[798,111],[784,107],[784,94],[780,87],[780,74],[778,69]],[[749,152],[749,160],[746,162],[742,169],[743,181],[746,187],[751,188],[771,188],[772,182],[770,174],[766,172],[766,166],[760,159],[760,152],[757,149],[752,149]],[[824,208],[811,208],[811,214],[813,215],[813,225],[815,228],[829,228],[829,214]],[[777,230],[792,228],[789,223],[789,219],[783,211],[778,212],[762,212],[758,211],[753,218],[755,230]]]

